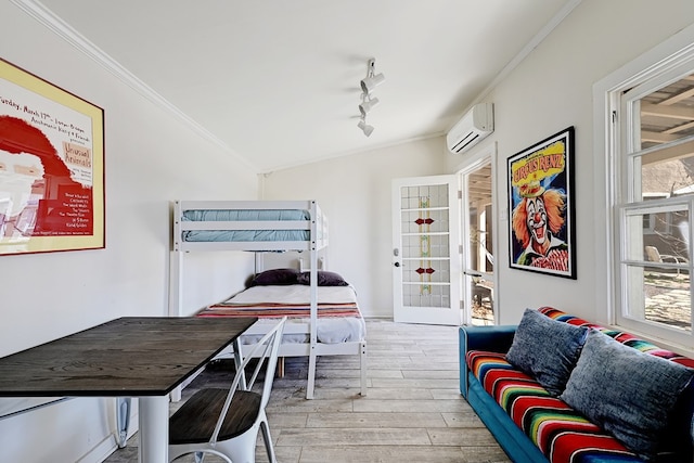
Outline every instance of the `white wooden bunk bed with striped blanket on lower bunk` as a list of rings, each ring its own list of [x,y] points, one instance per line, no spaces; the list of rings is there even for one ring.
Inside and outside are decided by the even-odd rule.
[[[354,301],[338,304],[351,304],[350,312],[336,314],[330,310],[323,310],[325,304],[335,305],[331,295],[325,299],[325,293],[332,293],[319,286],[319,258],[318,254],[327,246],[327,219],[321,213],[314,201],[177,201],[174,203],[174,249],[170,258],[170,295],[169,314],[181,316],[182,307],[182,266],[183,254],[196,250],[247,250],[256,253],[256,272],[262,269],[261,254],[264,252],[305,252],[308,254],[309,270],[306,272],[307,283],[303,285],[303,300],[292,299],[292,309],[303,306],[304,309],[293,313],[291,323],[284,330],[283,342],[280,345],[279,356],[308,357],[308,378],[306,398],[312,399],[316,385],[316,364],[321,356],[359,356],[360,359],[360,386],[361,395],[367,394],[367,340],[363,318]],[[291,285],[282,285],[277,291],[288,291]],[[296,285],[294,285],[296,286]],[[349,286],[350,287],[350,286]],[[248,288],[253,290],[253,287]],[[297,290],[296,287],[294,290]],[[344,290],[344,288],[343,288]],[[351,288],[354,292],[354,288]],[[241,292],[239,296],[248,293]],[[262,296],[265,298],[265,296]],[[275,299],[278,295],[274,295]],[[288,297],[288,296],[287,296]],[[287,300],[279,293],[279,299],[274,303],[282,304]],[[308,300],[305,300],[308,299]],[[253,304],[257,313],[261,313],[259,321],[246,331],[242,338],[243,350],[250,350],[254,339],[265,334],[272,323],[270,318],[279,317],[278,311],[264,310],[265,300],[255,299]],[[275,304],[270,307],[277,307]],[[320,303],[320,304],[319,304]],[[233,297],[230,300],[215,303],[203,309],[201,317],[235,317],[248,313],[234,307]],[[243,301],[241,305],[248,305]],[[267,304],[265,304],[267,306]],[[319,309],[320,307],[320,309]],[[340,307],[345,309],[346,307]],[[248,309],[246,307],[246,309]],[[352,308],[350,308],[351,310]],[[319,318],[321,324],[330,323],[331,330],[339,326],[335,321],[344,318],[343,326],[354,329],[354,320],[359,320],[361,330],[359,335],[354,332],[331,339],[321,339],[319,336]],[[325,319],[325,323],[323,322]],[[330,321],[327,320],[330,319]],[[349,320],[348,320],[349,319]],[[222,352],[221,355],[228,355]],[[243,352],[242,352],[243,353]],[[236,352],[237,355],[237,352]]]

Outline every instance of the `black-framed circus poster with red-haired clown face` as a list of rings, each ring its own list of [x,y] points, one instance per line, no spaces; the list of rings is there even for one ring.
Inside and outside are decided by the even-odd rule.
[[[511,268],[576,279],[574,127],[509,158]]]

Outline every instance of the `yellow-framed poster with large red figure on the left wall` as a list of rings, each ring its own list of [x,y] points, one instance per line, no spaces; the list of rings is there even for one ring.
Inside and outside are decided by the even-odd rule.
[[[104,240],[103,110],[0,59],[0,254]]]

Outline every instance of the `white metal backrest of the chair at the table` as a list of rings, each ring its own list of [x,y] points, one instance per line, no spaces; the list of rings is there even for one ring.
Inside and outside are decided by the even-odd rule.
[[[280,350],[280,343],[282,342],[282,334],[284,332],[285,323],[286,317],[282,318],[280,322],[272,327],[272,330],[266,333],[262,338],[260,338],[260,340],[258,340],[253,346],[250,351],[245,356],[243,362],[241,362],[240,365],[236,365],[236,374],[234,375],[234,381],[229,388],[227,400],[224,401],[224,406],[222,407],[219,419],[217,420],[217,425],[215,426],[215,432],[213,433],[210,442],[217,441],[217,437],[219,436],[219,432],[224,422],[224,417],[229,412],[229,407],[231,406],[234,394],[240,389],[242,378],[244,378],[245,376],[245,369],[253,359],[257,359],[258,363],[253,370],[250,380],[246,382],[246,387],[243,390],[250,390],[253,388],[253,385],[258,378],[259,373],[265,368],[265,381],[262,384],[260,407],[261,409],[265,409],[265,407],[267,406],[268,400],[270,400],[270,393],[272,391],[274,371],[278,365],[278,352]]]

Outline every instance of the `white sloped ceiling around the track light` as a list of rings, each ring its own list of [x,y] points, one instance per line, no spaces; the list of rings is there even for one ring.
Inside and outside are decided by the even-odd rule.
[[[580,0],[18,2],[266,172],[445,133]]]

